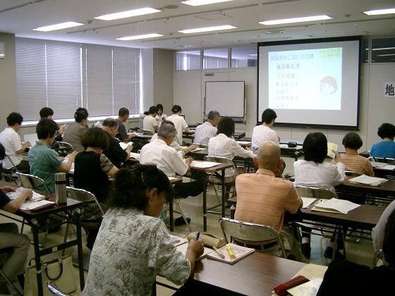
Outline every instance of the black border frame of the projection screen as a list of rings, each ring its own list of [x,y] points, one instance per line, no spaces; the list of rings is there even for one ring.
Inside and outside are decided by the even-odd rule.
[[[288,44],[309,44],[309,43],[327,43],[327,42],[342,42],[342,41],[358,41],[358,90],[357,90],[357,114],[356,126],[354,125],[321,125],[311,123],[277,123],[274,126],[287,128],[319,128],[327,130],[359,130],[360,124],[360,68],[361,68],[361,41],[362,36],[347,36],[347,37],[332,37],[332,38],[317,38],[317,39],[299,39],[299,40],[284,40],[275,42],[257,42],[257,125],[262,124],[259,101],[260,101],[260,47],[274,46],[274,45],[288,45]]]

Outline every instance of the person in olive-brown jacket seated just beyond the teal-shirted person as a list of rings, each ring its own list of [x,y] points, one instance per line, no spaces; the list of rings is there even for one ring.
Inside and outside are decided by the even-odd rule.
[[[66,132],[64,132],[63,141],[71,144],[76,152],[84,151],[81,139],[88,129],[87,116],[87,109],[78,108],[74,113],[75,123],[68,125]]]

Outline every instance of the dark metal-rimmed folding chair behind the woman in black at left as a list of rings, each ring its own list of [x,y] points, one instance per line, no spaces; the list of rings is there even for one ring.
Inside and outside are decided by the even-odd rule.
[[[104,215],[104,210],[99,201],[91,192],[75,187],[66,187],[67,197],[78,200],[78,202],[92,202],[86,204],[81,216],[84,220],[98,220]]]

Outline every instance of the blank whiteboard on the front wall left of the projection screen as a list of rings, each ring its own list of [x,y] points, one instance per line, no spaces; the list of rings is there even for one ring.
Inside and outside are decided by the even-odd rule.
[[[207,81],[205,113],[244,117],[244,81]]]

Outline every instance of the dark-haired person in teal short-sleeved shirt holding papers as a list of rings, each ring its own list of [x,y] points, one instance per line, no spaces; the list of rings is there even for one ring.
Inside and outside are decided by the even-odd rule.
[[[68,173],[74,162],[77,152],[68,154],[66,162],[62,162],[61,157],[51,144],[54,143],[56,131],[59,130],[58,124],[51,119],[42,119],[37,123],[36,132],[38,142],[29,151],[29,164],[32,175],[42,178],[48,185],[51,192],[55,192],[55,176],[57,172]],[[40,187],[39,190],[45,190]]]

